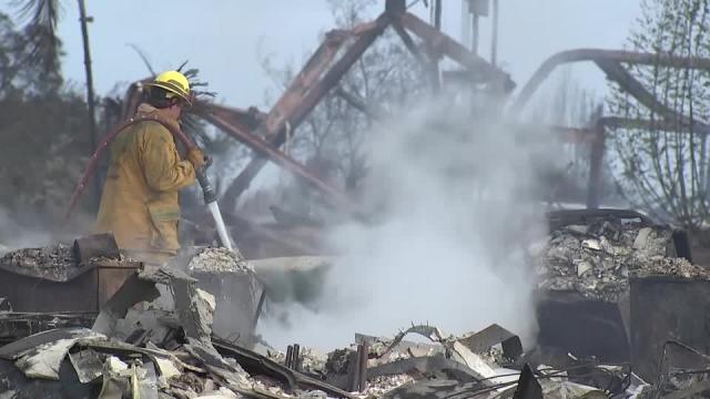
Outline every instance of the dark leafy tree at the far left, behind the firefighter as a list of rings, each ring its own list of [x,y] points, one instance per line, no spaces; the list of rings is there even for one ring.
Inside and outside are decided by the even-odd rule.
[[[91,152],[83,95],[28,62],[32,37],[0,14],[0,207],[58,217]]]

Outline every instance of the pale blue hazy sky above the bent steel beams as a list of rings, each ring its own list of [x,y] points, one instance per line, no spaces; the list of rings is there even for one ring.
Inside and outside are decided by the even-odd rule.
[[[460,1],[444,4],[444,29],[459,38]],[[557,51],[620,48],[639,12],[639,0],[500,0],[500,4],[499,58],[519,85]],[[87,8],[95,21],[90,35],[98,93],[148,74],[128,45],[132,43],[159,70],[189,60],[201,69],[212,90],[235,106],[264,103],[271,82],[258,63],[260,53],[275,54],[278,62],[301,63],[316,48],[318,33],[333,27],[325,0],[104,0],[87,1]],[[423,2],[413,11],[428,20]],[[484,25],[483,31],[481,52],[488,57],[488,28]],[[59,34],[67,53],[64,75],[83,88],[75,1],[63,0]],[[584,80],[588,81],[587,74]]]

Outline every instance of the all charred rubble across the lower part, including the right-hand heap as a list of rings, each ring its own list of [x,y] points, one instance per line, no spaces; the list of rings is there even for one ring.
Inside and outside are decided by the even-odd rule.
[[[539,324],[529,347],[498,325],[463,336],[413,325],[392,337],[356,334],[324,355],[273,348],[254,331],[268,284],[278,284],[264,276],[287,258],[252,263],[197,247],[149,268],[119,254],[110,235],[10,252],[0,259],[0,389],[8,398],[707,392],[710,274],[691,263],[684,233],[629,211],[548,219],[548,239],[529,248]],[[322,260],[308,267],[332,262]]]

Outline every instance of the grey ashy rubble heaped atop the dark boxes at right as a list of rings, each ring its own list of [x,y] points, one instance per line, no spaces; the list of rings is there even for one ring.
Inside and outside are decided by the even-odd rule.
[[[628,289],[629,276],[710,277],[702,267],[672,257],[672,243],[671,228],[636,221],[562,226],[534,250],[539,288],[616,301]]]

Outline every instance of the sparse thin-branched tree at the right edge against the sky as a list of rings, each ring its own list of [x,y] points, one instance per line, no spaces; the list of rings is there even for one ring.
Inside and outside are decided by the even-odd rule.
[[[635,51],[681,58],[710,58],[708,0],[645,0]],[[635,65],[630,72],[666,111],[651,110],[613,86],[613,115],[649,121],[649,129],[612,132],[619,184],[639,207],[689,228],[709,215],[708,114],[710,72]]]

